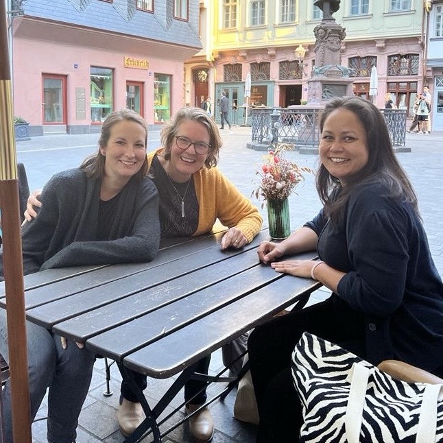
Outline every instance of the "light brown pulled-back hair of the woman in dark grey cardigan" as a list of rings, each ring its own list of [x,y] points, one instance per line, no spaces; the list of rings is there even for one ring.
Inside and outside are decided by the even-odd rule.
[[[80,169],[83,169],[86,173],[86,176],[89,178],[101,178],[104,174],[105,167],[105,159],[106,157],[101,154],[100,148],[106,147],[110,138],[110,132],[112,126],[120,121],[134,121],[135,123],[139,123],[145,130],[145,147],[147,147],[147,123],[140,114],[131,109],[121,109],[118,111],[111,112],[106,120],[103,122],[101,126],[101,134],[99,138],[99,149],[97,154],[92,154],[91,156],[86,157],[83,160],[82,165],[80,165]],[[136,180],[140,180],[147,174],[147,158],[143,162],[140,170],[134,175]]]

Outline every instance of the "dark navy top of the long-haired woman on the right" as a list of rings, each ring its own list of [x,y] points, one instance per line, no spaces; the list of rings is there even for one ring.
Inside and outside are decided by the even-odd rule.
[[[442,279],[411,204],[386,194],[381,184],[356,187],[342,221],[320,211],[306,226],[320,258],[346,272],[333,297],[365,315],[368,361],[395,358],[442,376]]]

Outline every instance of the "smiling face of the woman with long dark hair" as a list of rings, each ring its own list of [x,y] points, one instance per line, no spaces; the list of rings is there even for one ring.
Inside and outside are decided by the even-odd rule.
[[[318,150],[322,165],[345,185],[369,158],[366,130],[357,115],[345,108],[331,112],[324,121]]]

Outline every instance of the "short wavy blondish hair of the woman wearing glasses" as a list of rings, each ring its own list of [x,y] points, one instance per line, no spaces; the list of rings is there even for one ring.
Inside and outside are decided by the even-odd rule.
[[[200,108],[181,108],[176,112],[176,115],[173,116],[171,121],[163,126],[160,133],[160,139],[163,148],[165,149],[163,151],[165,160],[171,159],[171,149],[174,143],[174,138],[177,135],[178,127],[186,120],[202,123],[202,125],[208,130],[210,139],[209,145],[211,145],[211,147],[209,148],[208,156],[206,157],[204,165],[207,168],[217,166],[219,150],[222,145],[219,129],[215,124],[213,117]]]

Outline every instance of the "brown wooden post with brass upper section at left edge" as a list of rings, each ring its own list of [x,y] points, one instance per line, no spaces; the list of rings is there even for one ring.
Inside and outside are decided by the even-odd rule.
[[[8,314],[12,435],[31,443],[23,260],[5,2],[0,1],[0,207]],[[9,442],[8,442],[9,443]]]

